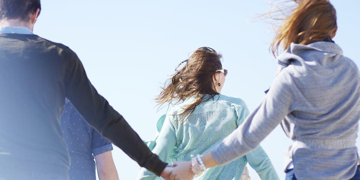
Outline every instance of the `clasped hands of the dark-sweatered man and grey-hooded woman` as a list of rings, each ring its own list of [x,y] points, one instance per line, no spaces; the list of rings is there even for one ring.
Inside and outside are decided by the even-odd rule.
[[[174,165],[165,167],[161,173],[161,177],[166,180],[189,180],[194,176],[191,161],[175,162]]]

